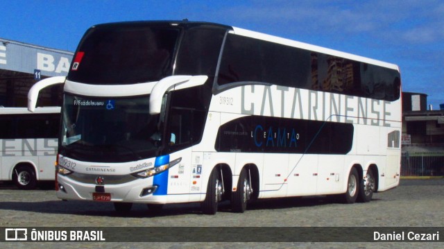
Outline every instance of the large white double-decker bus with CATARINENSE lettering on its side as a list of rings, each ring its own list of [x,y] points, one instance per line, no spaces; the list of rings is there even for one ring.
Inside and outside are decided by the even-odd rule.
[[[337,195],[400,180],[396,65],[232,26],[92,26],[64,83],[57,196],[158,209]]]

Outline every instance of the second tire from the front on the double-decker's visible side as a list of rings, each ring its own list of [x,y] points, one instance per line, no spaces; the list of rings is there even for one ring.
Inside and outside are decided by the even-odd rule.
[[[237,182],[237,191],[233,192],[231,209],[233,212],[243,213],[247,208],[247,202],[251,197],[251,182],[246,168],[242,169]]]

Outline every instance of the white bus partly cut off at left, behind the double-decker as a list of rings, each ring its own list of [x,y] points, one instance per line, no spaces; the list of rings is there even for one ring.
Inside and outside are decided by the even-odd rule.
[[[0,108],[0,180],[34,189],[54,180],[60,107]]]

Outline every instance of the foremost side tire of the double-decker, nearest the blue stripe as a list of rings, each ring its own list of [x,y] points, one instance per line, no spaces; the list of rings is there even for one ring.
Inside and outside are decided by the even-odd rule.
[[[214,168],[211,172],[210,180],[208,180],[205,200],[200,205],[204,214],[216,214],[222,192],[222,180],[219,177],[219,170]]]

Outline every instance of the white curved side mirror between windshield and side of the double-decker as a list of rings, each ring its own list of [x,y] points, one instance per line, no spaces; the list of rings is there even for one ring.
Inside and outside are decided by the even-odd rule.
[[[188,87],[196,87],[203,85],[208,79],[208,76],[185,76],[176,75],[162,78],[155,84],[150,95],[150,114],[160,114],[162,109],[162,98],[164,94],[171,89],[185,89]]]

